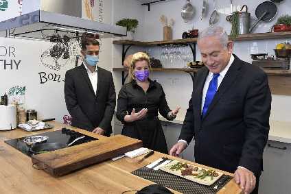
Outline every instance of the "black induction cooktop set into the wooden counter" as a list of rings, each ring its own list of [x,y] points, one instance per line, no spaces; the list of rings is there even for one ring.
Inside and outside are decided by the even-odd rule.
[[[75,143],[73,143],[73,145],[71,145],[70,147],[74,146],[74,145],[79,145],[82,143],[87,143],[90,141],[95,141],[97,140],[97,138],[93,138],[91,136],[86,136],[84,134],[81,134],[79,132],[75,132],[73,130],[69,130],[67,128],[62,128],[61,130],[56,130],[54,132],[45,132],[43,134],[37,134],[39,136],[48,136],[48,140],[47,143],[63,143],[63,144],[69,144],[71,143],[73,140],[75,140],[75,138],[78,138],[80,136],[85,136],[84,138],[76,141]],[[8,145],[11,145],[12,147],[14,147],[15,149],[18,149],[19,151],[21,151],[23,154],[27,155],[27,156],[32,156],[32,151],[31,148],[28,147],[24,142],[23,139],[26,138],[25,137],[21,137],[21,138],[14,138],[14,139],[10,139],[8,141],[5,141],[5,143],[7,143]]]

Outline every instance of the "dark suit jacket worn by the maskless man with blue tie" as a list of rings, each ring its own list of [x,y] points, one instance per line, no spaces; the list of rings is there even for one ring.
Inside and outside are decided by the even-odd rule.
[[[179,139],[190,143],[195,138],[195,160],[200,164],[232,173],[242,166],[259,175],[270,129],[268,77],[259,67],[235,56],[201,119],[202,90],[208,73],[203,67],[195,75]]]

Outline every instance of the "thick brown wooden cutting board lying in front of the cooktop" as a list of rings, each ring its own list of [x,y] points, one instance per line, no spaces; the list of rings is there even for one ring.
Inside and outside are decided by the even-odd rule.
[[[59,176],[89,165],[120,156],[127,151],[142,147],[142,141],[128,136],[116,135],[32,156],[38,169]]]

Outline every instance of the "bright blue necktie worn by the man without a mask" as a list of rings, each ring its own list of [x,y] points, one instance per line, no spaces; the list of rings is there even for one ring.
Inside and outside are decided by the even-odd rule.
[[[204,102],[204,106],[203,106],[203,110],[202,110],[202,118],[205,117],[205,114],[209,108],[209,105],[211,104],[211,101],[212,101],[214,95],[216,95],[216,90],[218,88],[218,76],[219,75],[220,75],[219,73],[214,73],[212,80],[209,82],[209,86],[207,89],[205,102]]]

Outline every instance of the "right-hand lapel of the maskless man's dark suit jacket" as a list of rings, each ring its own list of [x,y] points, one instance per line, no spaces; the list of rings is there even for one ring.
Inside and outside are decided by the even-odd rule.
[[[218,100],[222,97],[222,95],[226,92],[226,90],[229,89],[231,84],[233,84],[233,82],[235,82],[237,75],[240,73],[240,71],[238,71],[238,70],[240,69],[241,66],[242,66],[242,64],[240,63],[240,59],[238,59],[237,56],[235,56],[235,60],[233,61],[233,64],[231,64],[226,75],[224,75],[224,78],[223,78],[223,80],[222,80],[222,82],[221,82],[221,84],[216,92],[216,95],[214,95],[214,97],[211,101],[211,104],[209,105],[209,108],[208,108],[208,110],[205,114],[205,117],[203,119],[205,119],[207,117],[209,112],[218,103]]]

